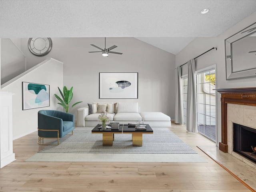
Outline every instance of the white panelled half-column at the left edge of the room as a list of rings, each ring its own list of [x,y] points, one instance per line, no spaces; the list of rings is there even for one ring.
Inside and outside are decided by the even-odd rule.
[[[0,92],[0,168],[15,160],[12,151],[12,95]]]

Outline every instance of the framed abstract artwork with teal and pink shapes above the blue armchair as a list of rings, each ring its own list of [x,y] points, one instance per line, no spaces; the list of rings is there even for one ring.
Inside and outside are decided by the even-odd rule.
[[[22,110],[50,106],[50,85],[22,82]]]

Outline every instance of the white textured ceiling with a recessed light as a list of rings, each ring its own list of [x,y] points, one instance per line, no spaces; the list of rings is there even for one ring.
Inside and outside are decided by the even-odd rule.
[[[135,37],[177,54],[255,11],[256,0],[0,0],[0,38]]]

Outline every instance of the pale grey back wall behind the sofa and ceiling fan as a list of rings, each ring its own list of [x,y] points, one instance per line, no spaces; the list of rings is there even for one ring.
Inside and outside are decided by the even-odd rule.
[[[90,46],[104,48],[104,38],[52,38],[52,50],[44,57],[32,55],[27,48],[28,39],[22,39],[22,52],[27,57],[28,68],[45,57],[64,62],[64,85],[73,86],[72,102],[83,101],[72,110],[95,101],[139,102],[140,111],[160,111],[174,119],[175,107],[175,56],[136,38],[106,38],[106,48],[116,45],[104,58]],[[138,99],[99,99],[99,72],[138,72]],[[56,91],[55,93],[58,93]]]

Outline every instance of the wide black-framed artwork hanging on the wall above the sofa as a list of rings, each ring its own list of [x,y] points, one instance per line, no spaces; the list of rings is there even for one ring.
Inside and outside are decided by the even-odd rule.
[[[138,73],[100,73],[100,99],[138,99]]]

